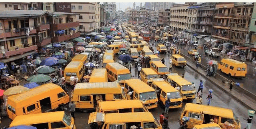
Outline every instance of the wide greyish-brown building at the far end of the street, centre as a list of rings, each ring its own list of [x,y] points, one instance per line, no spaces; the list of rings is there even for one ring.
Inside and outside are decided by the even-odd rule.
[[[149,11],[145,8],[141,8],[141,9],[132,9],[130,11],[130,16],[129,16],[129,22],[130,23],[144,23],[147,20],[149,20]]]

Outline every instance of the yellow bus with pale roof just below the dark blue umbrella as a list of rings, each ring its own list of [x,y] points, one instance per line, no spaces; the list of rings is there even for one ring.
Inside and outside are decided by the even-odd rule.
[[[107,63],[106,69],[111,82],[131,79],[130,70],[119,63]]]

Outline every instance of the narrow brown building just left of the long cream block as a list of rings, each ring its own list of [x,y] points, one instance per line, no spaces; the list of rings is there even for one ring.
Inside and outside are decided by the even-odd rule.
[[[168,25],[170,24],[170,9],[160,10],[158,14],[158,24]]]

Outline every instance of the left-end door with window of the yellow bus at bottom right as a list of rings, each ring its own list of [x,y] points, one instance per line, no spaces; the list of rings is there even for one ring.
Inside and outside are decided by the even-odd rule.
[[[203,123],[204,115],[200,113],[189,112],[188,128],[192,129],[194,125],[201,125]]]

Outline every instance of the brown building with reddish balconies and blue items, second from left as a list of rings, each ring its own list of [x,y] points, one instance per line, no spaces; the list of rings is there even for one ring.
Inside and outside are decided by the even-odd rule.
[[[79,22],[76,15],[66,12],[54,12],[53,20],[51,21],[52,27],[52,42],[68,41],[80,36],[77,31],[79,28]]]

